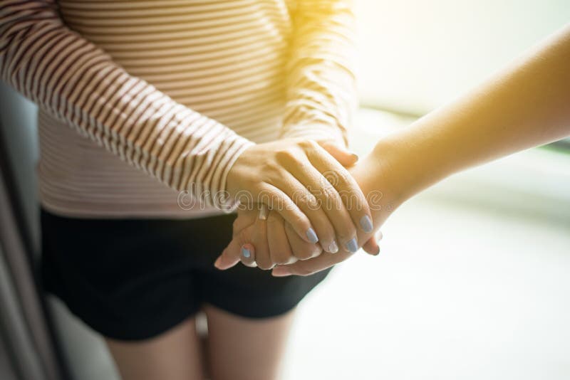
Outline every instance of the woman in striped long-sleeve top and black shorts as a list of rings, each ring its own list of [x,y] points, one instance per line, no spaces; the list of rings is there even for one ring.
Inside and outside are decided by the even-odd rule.
[[[212,379],[273,379],[289,310],[326,273],[214,270],[234,219],[220,209],[269,194],[328,253],[371,231],[366,201],[340,197],[363,200],[338,149],[355,106],[350,1],[0,4],[1,78],[39,106],[46,287],[105,335],[124,379],[203,377],[198,310]]]

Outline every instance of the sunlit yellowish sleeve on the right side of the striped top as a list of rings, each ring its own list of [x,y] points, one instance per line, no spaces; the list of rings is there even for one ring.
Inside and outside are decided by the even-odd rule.
[[[297,0],[281,137],[347,144],[356,110],[355,16],[350,0]]]

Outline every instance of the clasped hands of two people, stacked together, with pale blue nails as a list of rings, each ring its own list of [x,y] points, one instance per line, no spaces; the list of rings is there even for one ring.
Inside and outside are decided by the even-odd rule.
[[[346,167],[358,157],[331,142],[284,139],[247,149],[228,174],[241,202],[232,241],[215,265],[240,261],[309,275],[355,253],[378,253],[366,197]]]

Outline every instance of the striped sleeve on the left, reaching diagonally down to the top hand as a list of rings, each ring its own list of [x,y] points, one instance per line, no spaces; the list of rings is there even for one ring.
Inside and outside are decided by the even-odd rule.
[[[64,25],[55,0],[0,4],[2,80],[173,189],[224,198],[229,168],[253,142],[129,75]]]

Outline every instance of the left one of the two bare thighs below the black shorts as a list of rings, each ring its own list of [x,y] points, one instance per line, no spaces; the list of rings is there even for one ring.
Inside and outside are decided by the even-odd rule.
[[[203,380],[195,318],[142,342],[105,339],[123,380]]]

